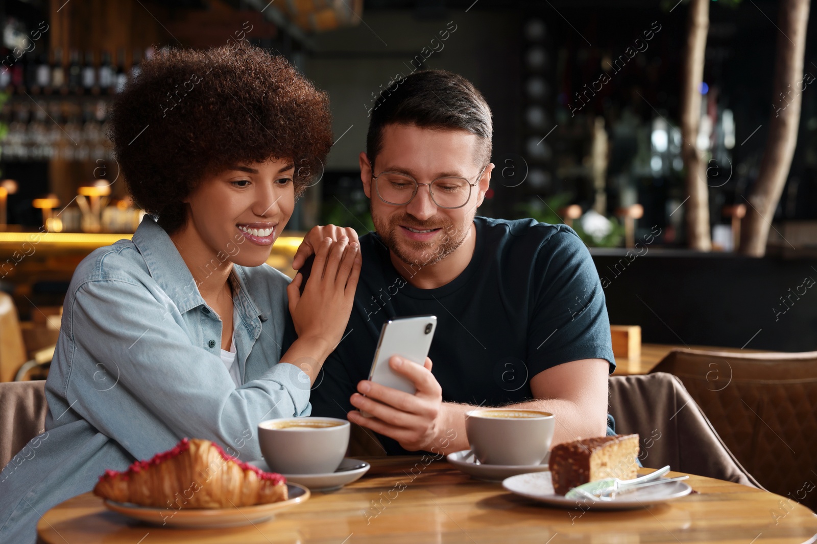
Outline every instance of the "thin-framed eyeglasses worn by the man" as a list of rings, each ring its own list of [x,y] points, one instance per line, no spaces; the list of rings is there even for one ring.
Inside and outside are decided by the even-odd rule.
[[[381,172],[379,175],[373,175],[372,181],[377,197],[386,204],[404,206],[417,195],[418,185],[428,185],[431,201],[440,208],[453,210],[467,204],[471,198],[471,189],[476,186],[487,167],[488,165],[482,167],[473,184],[466,178],[458,177],[437,178],[430,184],[419,184],[417,179],[400,172]]]

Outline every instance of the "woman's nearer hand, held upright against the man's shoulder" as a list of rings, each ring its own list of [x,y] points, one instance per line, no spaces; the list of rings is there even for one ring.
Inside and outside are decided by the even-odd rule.
[[[289,313],[298,340],[313,346],[321,364],[340,343],[346,330],[361,263],[363,259],[356,241],[350,243],[346,236],[339,237],[338,241],[325,237],[318,243],[303,294],[300,292],[304,281],[301,272],[287,288]]]

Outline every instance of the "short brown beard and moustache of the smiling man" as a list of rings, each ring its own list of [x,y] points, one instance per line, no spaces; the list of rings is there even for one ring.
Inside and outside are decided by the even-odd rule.
[[[440,225],[432,221],[420,222],[408,215],[391,217],[381,222],[375,219],[373,214],[372,219],[374,228],[386,247],[404,263],[419,267],[431,266],[445,259],[462,245],[468,233],[467,228],[461,230],[450,223]],[[438,235],[440,239],[427,242],[408,240],[399,232],[401,224],[412,225],[412,228],[417,228],[417,230],[440,228],[442,231]]]

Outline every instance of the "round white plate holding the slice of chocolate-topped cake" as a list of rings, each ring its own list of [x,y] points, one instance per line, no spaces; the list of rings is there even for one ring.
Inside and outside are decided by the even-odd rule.
[[[553,480],[550,471],[532,472],[511,476],[502,482],[502,487],[522,497],[544,502],[549,506],[560,508],[581,508],[582,510],[632,510],[649,506],[656,502],[671,501],[692,493],[692,488],[685,482],[667,482],[667,484],[649,485],[642,489],[633,489],[619,493],[612,501],[588,499],[570,499],[557,495],[553,491]]]

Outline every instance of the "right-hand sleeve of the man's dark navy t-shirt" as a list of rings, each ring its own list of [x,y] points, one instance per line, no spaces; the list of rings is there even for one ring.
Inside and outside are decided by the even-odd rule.
[[[605,359],[615,369],[599,274],[578,235],[560,228],[542,242],[534,263],[528,334],[530,376],[572,360]]]

